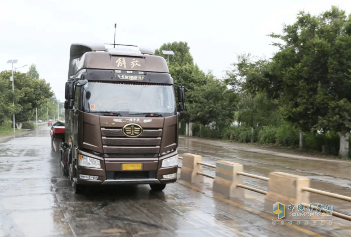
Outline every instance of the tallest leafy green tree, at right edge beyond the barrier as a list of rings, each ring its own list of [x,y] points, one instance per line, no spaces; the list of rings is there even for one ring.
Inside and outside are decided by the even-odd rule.
[[[294,24],[283,27],[282,35],[270,36],[282,42],[274,43],[279,50],[268,62],[264,76],[248,85],[253,91],[279,98],[283,118],[298,127],[301,135],[333,130],[340,134],[341,143],[351,130],[344,121],[351,111],[347,116],[339,114],[351,101],[350,17],[336,7],[319,16],[300,12]]]

